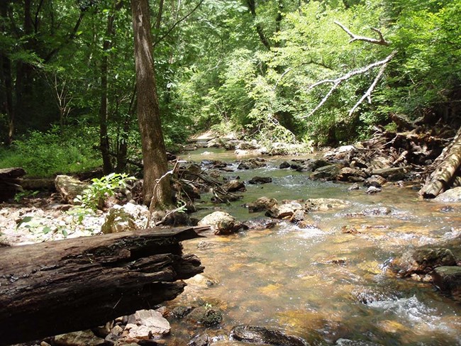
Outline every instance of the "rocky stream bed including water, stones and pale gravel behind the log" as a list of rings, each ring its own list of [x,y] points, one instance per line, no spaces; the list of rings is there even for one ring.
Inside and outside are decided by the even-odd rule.
[[[163,306],[38,344],[461,345],[459,191],[423,201],[418,169],[364,167],[360,151],[187,152],[220,182],[196,191],[191,214],[212,231],[183,242],[204,273]],[[59,195],[43,197],[1,205],[1,242],[97,235],[110,213],[79,223]],[[124,227],[145,227],[147,210],[126,206]]]

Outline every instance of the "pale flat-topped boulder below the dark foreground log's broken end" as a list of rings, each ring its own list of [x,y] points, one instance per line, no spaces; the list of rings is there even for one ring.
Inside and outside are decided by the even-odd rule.
[[[140,310],[128,316],[126,329],[130,330],[129,337],[142,340],[170,334],[171,328],[162,313],[155,310]]]

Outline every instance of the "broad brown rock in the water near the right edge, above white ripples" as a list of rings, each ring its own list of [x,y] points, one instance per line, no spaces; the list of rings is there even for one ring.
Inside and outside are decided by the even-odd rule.
[[[399,277],[409,277],[411,274],[427,274],[435,267],[455,266],[456,258],[452,252],[442,247],[420,248],[405,252],[394,259],[389,269]]]

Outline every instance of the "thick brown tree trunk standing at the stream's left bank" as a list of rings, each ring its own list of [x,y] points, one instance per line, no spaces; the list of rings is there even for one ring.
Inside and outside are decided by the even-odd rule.
[[[170,178],[165,177],[168,170],[167,150],[155,85],[148,0],[131,0],[131,12],[135,36],[138,124],[143,146],[143,198],[146,204],[152,201],[153,208],[165,208],[172,203],[171,187]]]

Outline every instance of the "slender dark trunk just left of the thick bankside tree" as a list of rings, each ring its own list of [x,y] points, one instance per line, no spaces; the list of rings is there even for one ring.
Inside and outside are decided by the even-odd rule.
[[[113,36],[113,21],[115,13],[121,8],[121,1],[115,6],[115,11],[111,13],[107,19],[106,38],[102,47],[101,58],[101,106],[99,108],[99,150],[101,150],[103,173],[109,174],[112,172],[112,162],[109,155],[109,135],[107,134],[107,73],[109,69],[109,50],[111,49],[111,37]]]

